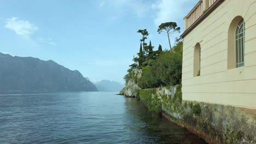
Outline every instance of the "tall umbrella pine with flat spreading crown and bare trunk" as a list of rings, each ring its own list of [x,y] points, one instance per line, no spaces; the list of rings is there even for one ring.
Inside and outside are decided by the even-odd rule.
[[[164,33],[167,35],[170,49],[172,49],[171,42],[170,42],[170,35],[177,33],[177,32],[179,33],[180,29],[181,29],[180,27],[177,27],[176,22],[165,22],[165,23],[161,23],[161,25],[159,25],[158,33],[159,34]]]

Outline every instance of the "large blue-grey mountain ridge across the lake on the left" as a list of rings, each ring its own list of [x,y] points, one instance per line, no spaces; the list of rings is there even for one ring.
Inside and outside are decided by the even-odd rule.
[[[0,52],[0,93],[98,91],[78,70],[54,61],[17,57]]]

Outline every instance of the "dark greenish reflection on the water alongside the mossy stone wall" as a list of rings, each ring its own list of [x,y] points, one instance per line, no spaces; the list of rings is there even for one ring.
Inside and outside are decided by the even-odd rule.
[[[126,98],[126,117],[130,117],[129,129],[139,131],[137,141],[142,143],[206,143],[187,129],[169,122],[159,113],[149,112],[141,101]]]

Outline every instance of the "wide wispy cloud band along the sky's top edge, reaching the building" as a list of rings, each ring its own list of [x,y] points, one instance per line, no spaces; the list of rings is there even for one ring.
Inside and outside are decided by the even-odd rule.
[[[102,1],[100,8],[108,6],[117,10],[114,17],[132,14],[137,17],[152,16],[156,26],[167,21],[181,21],[199,0],[113,0]]]

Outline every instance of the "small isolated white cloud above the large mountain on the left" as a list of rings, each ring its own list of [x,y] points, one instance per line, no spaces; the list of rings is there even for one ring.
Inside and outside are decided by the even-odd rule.
[[[19,20],[17,17],[11,17],[6,20],[5,28],[11,29],[16,34],[21,35],[25,39],[31,39],[31,35],[38,30],[37,26],[29,21]]]

